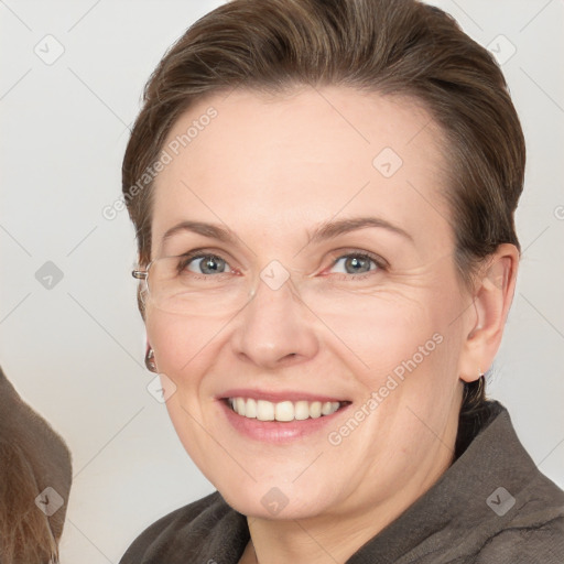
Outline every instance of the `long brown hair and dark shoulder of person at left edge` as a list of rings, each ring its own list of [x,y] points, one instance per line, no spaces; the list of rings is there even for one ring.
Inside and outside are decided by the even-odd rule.
[[[70,453],[0,368],[0,562],[58,562],[72,482]]]

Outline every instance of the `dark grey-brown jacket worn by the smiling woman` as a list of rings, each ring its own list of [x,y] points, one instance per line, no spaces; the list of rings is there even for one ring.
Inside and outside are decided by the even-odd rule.
[[[564,492],[539,471],[507,410],[488,402],[488,412],[441,479],[347,564],[564,563]],[[215,492],[156,521],[120,564],[236,564],[248,540],[246,518]]]

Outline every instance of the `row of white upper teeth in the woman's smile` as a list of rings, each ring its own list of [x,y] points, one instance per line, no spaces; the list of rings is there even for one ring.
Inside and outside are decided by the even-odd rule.
[[[338,401],[281,401],[272,403],[267,400],[253,400],[252,398],[229,398],[231,409],[249,419],[259,421],[303,421],[306,419],[317,419],[322,415],[335,413],[340,403]]]

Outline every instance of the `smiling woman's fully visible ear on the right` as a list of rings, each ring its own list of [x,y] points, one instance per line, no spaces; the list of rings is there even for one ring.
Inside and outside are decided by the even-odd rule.
[[[517,247],[500,245],[476,280],[458,371],[465,382],[477,380],[494,362],[513,300],[518,265]]]

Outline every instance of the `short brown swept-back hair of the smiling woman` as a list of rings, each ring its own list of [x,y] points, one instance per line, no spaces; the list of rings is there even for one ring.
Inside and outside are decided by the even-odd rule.
[[[295,85],[343,85],[422,102],[445,134],[445,197],[463,280],[500,243],[519,249],[513,214],[524,177],[523,133],[496,61],[453,18],[415,0],[232,0],[192,25],[145,86],[122,169],[140,264],[151,260],[152,183],[135,197],[131,188],[178,117],[219,90],[283,93]]]

